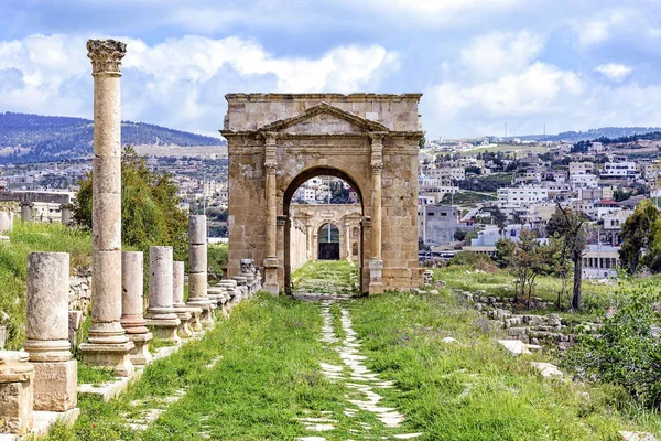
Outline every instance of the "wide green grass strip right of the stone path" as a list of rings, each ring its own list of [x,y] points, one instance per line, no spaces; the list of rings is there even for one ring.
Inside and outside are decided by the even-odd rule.
[[[659,416],[622,389],[542,379],[529,365],[542,355],[509,355],[495,342],[500,331],[448,293],[379,295],[350,309],[368,367],[395,381],[400,409],[424,440],[616,440],[618,430],[661,431]]]

